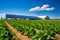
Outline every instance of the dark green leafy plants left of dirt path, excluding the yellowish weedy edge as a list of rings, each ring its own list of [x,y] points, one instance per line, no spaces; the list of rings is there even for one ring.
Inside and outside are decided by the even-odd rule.
[[[12,40],[12,35],[7,26],[0,20],[0,40]]]

